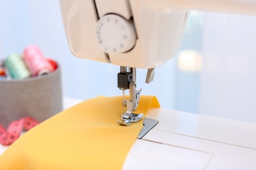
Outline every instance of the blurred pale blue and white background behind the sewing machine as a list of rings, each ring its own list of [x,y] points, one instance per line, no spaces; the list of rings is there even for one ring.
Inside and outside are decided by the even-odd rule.
[[[119,66],[71,54],[58,0],[0,3],[0,59],[35,44],[60,63],[65,97],[122,94]],[[175,58],[156,69],[152,84],[138,69],[137,86],[166,109],[256,123],[255,30],[256,16],[192,11]]]

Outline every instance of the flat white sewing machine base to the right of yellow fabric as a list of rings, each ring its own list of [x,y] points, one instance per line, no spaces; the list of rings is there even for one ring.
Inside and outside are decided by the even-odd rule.
[[[256,124],[167,109],[138,139],[123,169],[256,169]]]

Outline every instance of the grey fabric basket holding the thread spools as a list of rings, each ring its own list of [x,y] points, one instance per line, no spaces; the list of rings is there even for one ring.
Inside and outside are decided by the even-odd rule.
[[[43,122],[62,111],[60,68],[49,75],[0,80],[0,124],[31,116]]]

